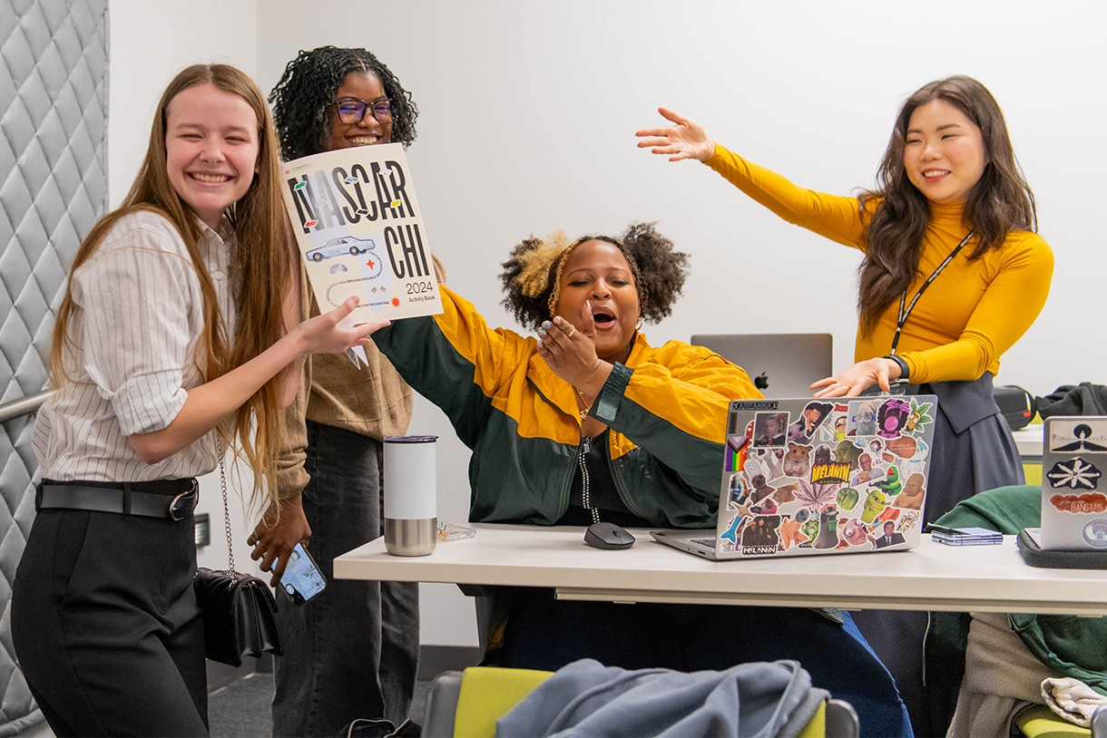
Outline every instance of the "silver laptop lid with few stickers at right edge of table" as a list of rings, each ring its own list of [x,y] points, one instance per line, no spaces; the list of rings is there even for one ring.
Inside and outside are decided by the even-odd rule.
[[[1107,417],[1048,417],[1043,438],[1042,548],[1107,550]]]

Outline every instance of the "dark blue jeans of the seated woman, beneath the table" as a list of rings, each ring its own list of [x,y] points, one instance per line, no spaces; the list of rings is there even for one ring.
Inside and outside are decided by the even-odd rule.
[[[503,666],[552,672],[594,658],[628,669],[695,672],[793,658],[814,686],[853,706],[862,738],[911,737],[896,684],[851,622],[847,628],[799,607],[576,602],[542,589],[513,596]]]

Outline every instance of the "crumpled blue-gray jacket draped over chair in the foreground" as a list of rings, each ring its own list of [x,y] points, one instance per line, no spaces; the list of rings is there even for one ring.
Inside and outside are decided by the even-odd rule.
[[[496,723],[496,738],[792,738],[829,698],[798,662],[628,672],[584,658]]]

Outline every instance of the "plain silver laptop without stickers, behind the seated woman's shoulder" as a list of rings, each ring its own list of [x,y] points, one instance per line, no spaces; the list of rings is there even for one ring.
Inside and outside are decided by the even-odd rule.
[[[691,343],[744,368],[766,397],[810,395],[813,382],[834,374],[829,333],[700,334]]]

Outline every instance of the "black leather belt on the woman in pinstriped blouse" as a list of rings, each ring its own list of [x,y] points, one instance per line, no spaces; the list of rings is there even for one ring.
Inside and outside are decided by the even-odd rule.
[[[43,481],[34,496],[34,510],[93,510],[117,514],[142,516],[145,518],[168,518],[184,520],[199,501],[199,486],[195,479],[164,482],[120,482],[117,485],[93,487],[82,484],[58,484]],[[184,487],[183,491],[176,491]],[[138,491],[136,488],[157,489],[155,492]],[[162,490],[165,491],[162,491]]]

